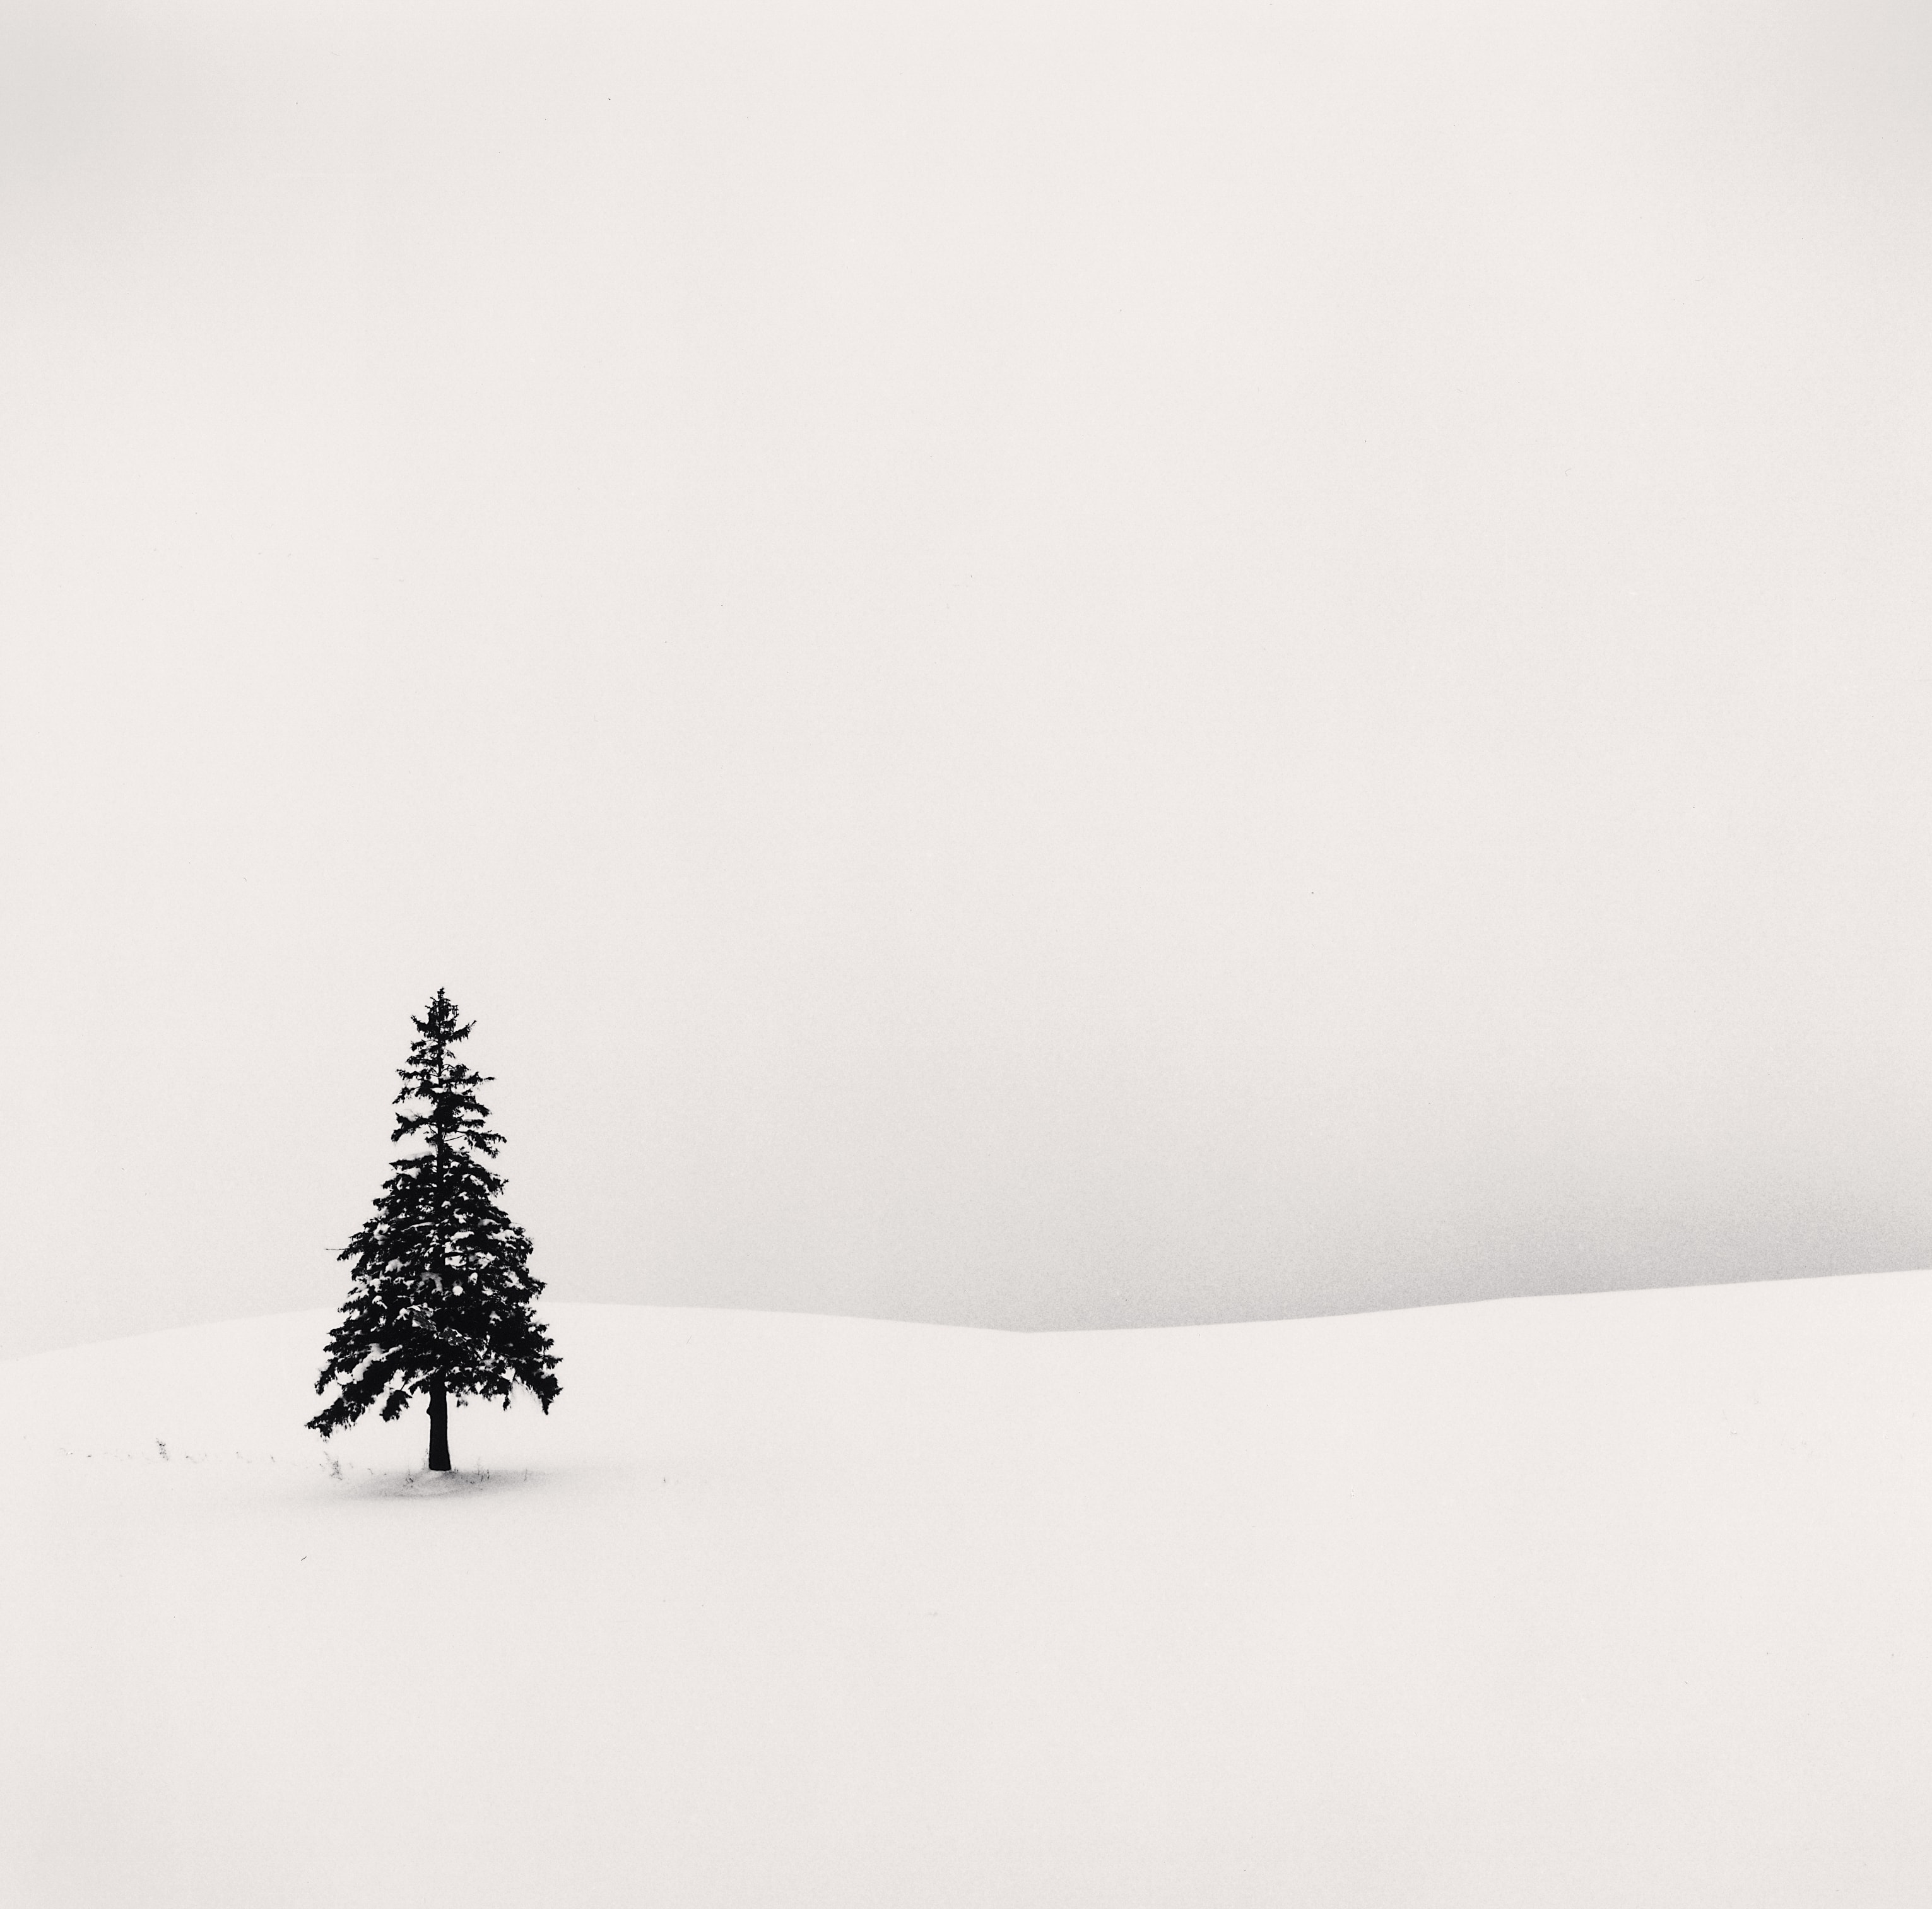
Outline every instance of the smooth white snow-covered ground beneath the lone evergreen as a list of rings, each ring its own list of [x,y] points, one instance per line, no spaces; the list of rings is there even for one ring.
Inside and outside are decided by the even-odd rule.
[[[0,1899],[1932,1901],[1932,1275],[0,1366]],[[166,1447],[166,1453],[162,1453]]]

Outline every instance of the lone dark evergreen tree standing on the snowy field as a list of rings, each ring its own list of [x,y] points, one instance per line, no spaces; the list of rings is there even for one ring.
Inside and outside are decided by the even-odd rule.
[[[398,1067],[390,1144],[415,1150],[390,1161],[375,1213],[338,1258],[354,1260],[342,1318],[328,1335],[319,1393],[336,1397],[309,1420],[328,1438],[377,1399],[400,1418],[429,1401],[429,1468],[450,1468],[450,1399],[500,1399],[526,1385],[549,1412],[558,1393],[551,1335],[529,1310],[543,1281],[529,1271],[529,1235],[497,1204],[504,1179],[489,1165],[502,1134],[475,1090],[489,1080],[450,1049],[469,1038],[439,987]]]

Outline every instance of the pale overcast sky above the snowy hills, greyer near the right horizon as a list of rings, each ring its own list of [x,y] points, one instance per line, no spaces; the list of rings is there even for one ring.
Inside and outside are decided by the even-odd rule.
[[[0,14],[0,1351],[1932,1260],[1932,23]]]

